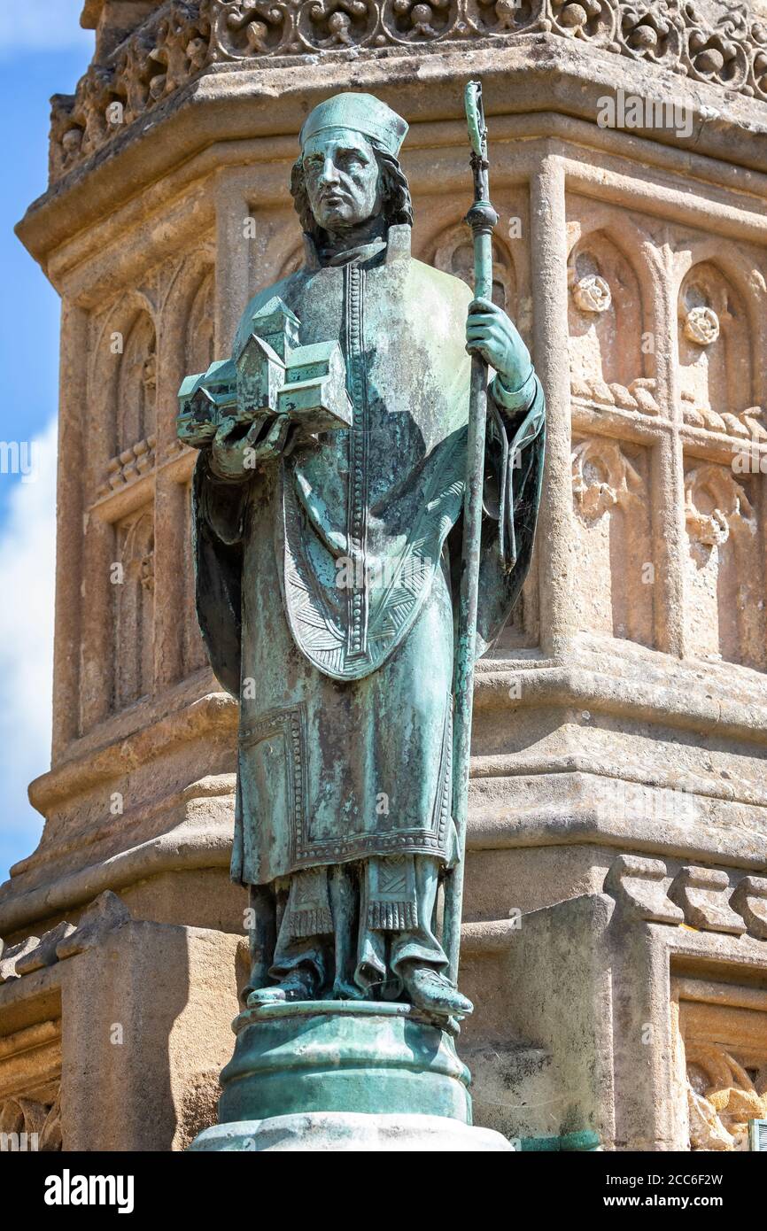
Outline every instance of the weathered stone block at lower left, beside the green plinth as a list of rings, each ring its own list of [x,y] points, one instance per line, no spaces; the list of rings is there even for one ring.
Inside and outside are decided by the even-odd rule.
[[[183,1150],[215,1115],[243,943],[134,921],[103,894],[15,971],[7,959],[0,1131],[37,1133],[41,1150]]]

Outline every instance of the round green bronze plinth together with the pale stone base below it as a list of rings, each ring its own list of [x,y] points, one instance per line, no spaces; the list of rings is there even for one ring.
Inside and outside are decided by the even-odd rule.
[[[234,1030],[219,1123],[191,1150],[511,1150],[472,1128],[453,1039],[409,1004],[268,1004]]]

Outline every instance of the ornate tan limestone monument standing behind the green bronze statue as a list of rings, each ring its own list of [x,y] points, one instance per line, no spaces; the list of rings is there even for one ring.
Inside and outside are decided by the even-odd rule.
[[[508,1137],[739,1149],[767,1114],[763,5],[709,0],[665,30],[618,0],[582,21],[462,0],[394,25],[334,2],[298,30],[288,6],[275,23],[149,7],[86,6],[96,65],[54,103],[52,187],[20,228],[63,298],[68,464],[46,832],[0,890],[0,969],[27,958],[0,986],[0,1123],[50,1117],[57,1141],[59,1083],[65,1149],[179,1149],[213,1121],[244,934],[236,719],[193,622],[175,393],[295,266],[295,137],[335,90],[408,118],[415,255],[468,272],[472,75],[495,293],[543,374],[549,438],[538,563],[476,683],[462,987],[481,1011],[459,1054],[478,1123]],[[617,81],[624,121],[635,96],[682,123],[601,124]],[[107,890],[132,922],[30,969],[27,939]],[[95,1000],[108,954],[123,974]],[[149,1110],[137,1051],[105,1041],[114,1022],[131,1037],[144,982],[163,1006],[140,1044]],[[106,1023],[89,1056],[86,1012]]]

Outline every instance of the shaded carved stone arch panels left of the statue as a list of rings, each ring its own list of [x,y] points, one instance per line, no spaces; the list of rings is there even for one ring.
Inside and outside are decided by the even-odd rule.
[[[140,286],[90,315],[95,447],[84,550],[92,560],[92,602],[112,612],[113,628],[110,639],[97,616],[85,630],[81,652],[94,692],[81,699],[81,734],[204,664],[193,618],[193,458],[180,448],[174,423],[182,377],[213,359],[213,330],[212,251],[204,244],[164,261]]]

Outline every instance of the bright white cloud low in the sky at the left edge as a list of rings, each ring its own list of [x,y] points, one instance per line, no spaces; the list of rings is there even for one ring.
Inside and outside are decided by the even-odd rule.
[[[0,793],[14,859],[37,844],[27,785],[50,764],[55,454],[54,420],[32,443],[32,481],[0,474],[15,484],[0,524]]]

